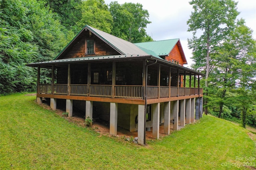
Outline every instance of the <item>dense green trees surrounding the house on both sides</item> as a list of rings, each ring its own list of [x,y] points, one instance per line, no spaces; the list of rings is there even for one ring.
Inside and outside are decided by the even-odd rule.
[[[187,21],[192,68],[204,72],[204,113],[256,126],[256,41],[234,0],[192,0]],[[0,0],[0,92],[35,91],[36,70],[54,59],[84,25],[130,41],[153,41],[148,10],[104,0]],[[40,79],[50,82],[48,70]]]

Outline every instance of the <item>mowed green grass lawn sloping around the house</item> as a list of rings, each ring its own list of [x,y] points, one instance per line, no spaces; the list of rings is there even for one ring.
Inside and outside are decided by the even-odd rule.
[[[256,165],[250,132],[210,115],[140,146],[78,127],[35,100],[24,94],[0,97],[0,169],[233,170]]]

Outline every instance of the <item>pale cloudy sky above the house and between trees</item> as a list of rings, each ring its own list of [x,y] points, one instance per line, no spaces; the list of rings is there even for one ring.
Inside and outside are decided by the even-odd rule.
[[[155,41],[179,38],[182,49],[190,67],[193,61],[192,50],[188,49],[188,38],[192,38],[192,32],[188,32],[187,21],[192,12],[190,0],[105,0],[106,4],[117,1],[118,4],[125,2],[140,3],[143,9],[148,10],[149,21],[146,32]],[[256,0],[235,0],[238,2],[237,10],[240,12],[238,19],[243,18],[246,26],[252,29],[253,38],[256,39]]]

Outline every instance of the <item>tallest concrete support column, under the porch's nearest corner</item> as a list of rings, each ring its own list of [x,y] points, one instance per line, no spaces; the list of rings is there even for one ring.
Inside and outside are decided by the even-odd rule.
[[[145,105],[138,105],[138,144],[144,145],[144,108]]]

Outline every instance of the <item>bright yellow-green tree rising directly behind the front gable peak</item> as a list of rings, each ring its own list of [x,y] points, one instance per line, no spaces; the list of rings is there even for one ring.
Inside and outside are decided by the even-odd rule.
[[[82,17],[81,20],[76,23],[77,32],[80,31],[84,25],[90,25],[106,33],[111,32],[113,20],[104,0],[83,1],[81,8]]]

